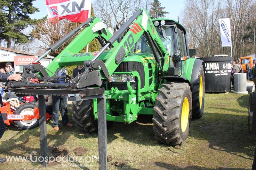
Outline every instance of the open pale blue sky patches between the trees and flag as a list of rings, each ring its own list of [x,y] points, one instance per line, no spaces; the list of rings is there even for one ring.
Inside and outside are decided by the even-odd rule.
[[[92,3],[95,0],[92,0]],[[165,18],[171,18],[177,20],[178,15],[181,15],[182,9],[184,9],[184,0],[159,0],[162,7],[165,7],[164,11],[170,12]],[[36,12],[31,15],[31,18],[40,19],[47,15],[45,0],[36,0],[33,2],[33,6],[39,8],[40,12]]]

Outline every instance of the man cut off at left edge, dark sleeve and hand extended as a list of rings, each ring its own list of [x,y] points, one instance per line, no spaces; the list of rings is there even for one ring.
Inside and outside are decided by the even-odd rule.
[[[21,80],[20,74],[10,75],[10,74],[0,73],[0,81],[13,81],[13,80],[20,81]],[[2,98],[0,99],[0,106],[3,106]],[[4,131],[5,131],[4,119],[2,114],[0,113],[0,139],[4,134]],[[0,158],[0,163],[4,161],[6,161],[6,158]]]

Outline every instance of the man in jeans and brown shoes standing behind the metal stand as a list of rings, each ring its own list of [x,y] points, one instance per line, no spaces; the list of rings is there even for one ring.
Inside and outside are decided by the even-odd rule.
[[[63,67],[59,71],[59,76],[68,75],[68,71]],[[58,78],[56,83],[66,83],[64,79]],[[60,109],[61,107],[61,109]],[[73,127],[74,125],[68,123],[68,96],[52,96],[52,120],[53,129],[59,130],[59,109],[61,111],[62,123],[64,126]]]

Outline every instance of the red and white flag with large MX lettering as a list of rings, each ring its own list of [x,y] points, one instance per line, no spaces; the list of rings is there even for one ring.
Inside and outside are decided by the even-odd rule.
[[[67,18],[72,22],[84,22],[91,16],[91,0],[46,0],[50,21]]]

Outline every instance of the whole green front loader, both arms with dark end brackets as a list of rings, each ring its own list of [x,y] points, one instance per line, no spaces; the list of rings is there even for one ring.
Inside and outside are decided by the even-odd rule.
[[[56,73],[54,74],[56,69],[61,69],[65,65],[77,65],[78,60],[70,61],[68,58],[70,58],[70,56],[74,56],[74,53],[79,53],[86,46],[86,44],[96,37],[104,39],[103,43],[105,45],[93,58],[84,58],[85,71],[74,78],[74,80],[69,79],[69,88],[81,89],[88,86],[101,86],[102,79],[110,79],[110,76],[123,61],[124,57],[127,57],[132,47],[143,34],[147,38],[147,42],[152,50],[156,63],[159,65],[160,70],[164,71],[162,68],[164,64],[167,63],[161,62],[160,59],[166,60],[168,53],[164,48],[164,45],[156,32],[156,28],[153,25],[147,11],[144,9],[136,11],[136,13],[128,21],[126,21],[113,36],[111,36],[108,30],[104,29],[105,27],[103,27],[100,23],[101,21],[99,18],[91,19],[88,26],[84,28],[84,30],[77,35],[76,38],[70,42],[70,44],[68,44],[68,46],[52,61],[52,63],[47,66],[46,72],[49,74],[49,76],[48,78],[43,78],[41,81],[44,81],[46,84],[51,83],[51,78],[58,78],[58,75]],[[127,31],[128,28],[129,30]],[[117,39],[125,32],[126,34],[118,44]],[[60,47],[60,43],[58,44],[57,42],[56,44],[54,44],[56,47]],[[107,60],[103,62],[100,60],[101,57],[99,58],[99,56],[102,55],[107,48],[111,49],[109,49],[107,54],[104,54]],[[27,82],[28,81],[26,80],[22,83]],[[19,84],[19,82],[13,82],[12,88],[19,86],[14,84]],[[43,84],[40,86],[43,86]],[[52,87],[54,85],[47,84],[46,86]]]

